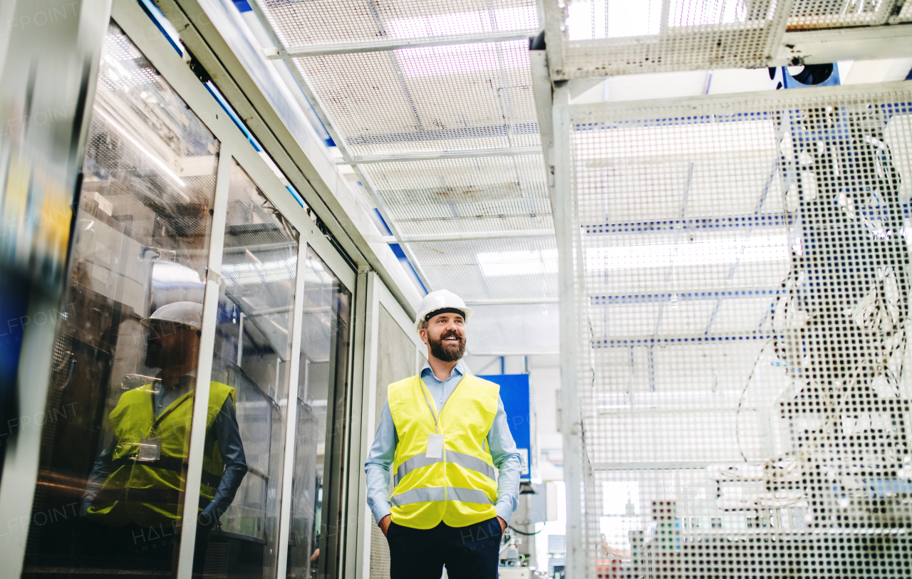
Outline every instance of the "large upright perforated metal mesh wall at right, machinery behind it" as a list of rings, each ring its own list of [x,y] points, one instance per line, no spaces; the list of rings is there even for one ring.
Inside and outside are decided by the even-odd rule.
[[[912,90],[570,123],[588,573],[908,576]]]

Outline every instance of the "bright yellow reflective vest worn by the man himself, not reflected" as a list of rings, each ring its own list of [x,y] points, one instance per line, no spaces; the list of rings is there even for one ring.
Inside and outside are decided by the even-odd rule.
[[[389,502],[396,524],[430,529],[440,522],[464,527],[492,519],[497,512],[497,482],[488,431],[497,414],[500,387],[466,375],[440,411],[444,436],[440,459],[425,456],[434,416],[420,376],[390,384],[389,412],[399,443],[393,459],[395,489]]]

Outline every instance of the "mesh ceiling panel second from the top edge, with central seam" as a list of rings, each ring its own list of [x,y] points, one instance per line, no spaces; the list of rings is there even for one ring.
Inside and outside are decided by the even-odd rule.
[[[539,144],[528,41],[299,57],[352,155]]]

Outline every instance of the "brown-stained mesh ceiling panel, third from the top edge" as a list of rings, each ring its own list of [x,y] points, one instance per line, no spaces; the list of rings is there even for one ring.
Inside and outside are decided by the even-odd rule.
[[[535,217],[551,213],[542,155],[370,163],[362,171],[392,218],[408,222],[413,234],[440,234],[441,221],[469,232],[483,222],[490,233],[509,227],[508,217],[534,230],[542,225]]]

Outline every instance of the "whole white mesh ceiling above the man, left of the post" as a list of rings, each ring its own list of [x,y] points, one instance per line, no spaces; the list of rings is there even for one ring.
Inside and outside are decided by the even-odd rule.
[[[421,282],[475,308],[470,353],[556,352],[557,255],[528,52],[535,0],[257,0],[254,10]],[[528,315],[548,329],[525,327]]]

